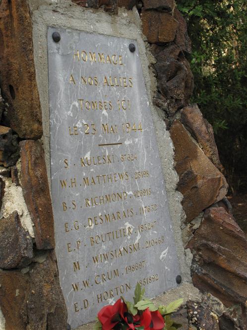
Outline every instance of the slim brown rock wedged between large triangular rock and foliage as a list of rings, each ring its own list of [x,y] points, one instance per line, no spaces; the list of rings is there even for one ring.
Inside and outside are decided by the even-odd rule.
[[[217,146],[214,140],[213,128],[206,119],[203,118],[197,104],[191,104],[182,109],[181,122],[196,139],[205,155],[220,171],[222,171],[223,167],[220,163]]]

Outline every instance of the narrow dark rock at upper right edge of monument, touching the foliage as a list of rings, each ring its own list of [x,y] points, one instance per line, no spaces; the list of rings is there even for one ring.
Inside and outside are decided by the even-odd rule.
[[[190,41],[188,33],[187,33],[187,24],[186,24],[186,21],[185,21],[183,15],[177,8],[175,8],[175,10],[174,10],[174,18],[179,23],[174,42],[184,52],[190,54],[191,53],[191,41]]]

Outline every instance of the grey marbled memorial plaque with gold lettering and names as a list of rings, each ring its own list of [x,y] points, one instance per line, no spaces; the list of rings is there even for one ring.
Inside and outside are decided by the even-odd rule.
[[[179,267],[136,41],[49,28],[48,60],[56,255],[73,329],[132,300],[137,282],[147,297],[175,287]]]

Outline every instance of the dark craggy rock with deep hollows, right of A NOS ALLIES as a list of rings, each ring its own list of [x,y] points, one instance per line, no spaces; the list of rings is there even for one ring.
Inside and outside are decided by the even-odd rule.
[[[153,46],[151,50],[157,61],[158,93],[154,103],[172,117],[189,102],[194,87],[193,75],[179,46]]]

